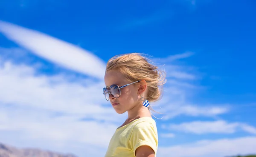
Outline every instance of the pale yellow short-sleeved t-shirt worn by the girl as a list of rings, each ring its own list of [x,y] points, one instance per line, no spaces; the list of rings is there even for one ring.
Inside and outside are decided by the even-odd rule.
[[[140,146],[150,146],[157,154],[157,126],[151,117],[141,117],[117,128],[105,157],[135,157],[135,150]]]

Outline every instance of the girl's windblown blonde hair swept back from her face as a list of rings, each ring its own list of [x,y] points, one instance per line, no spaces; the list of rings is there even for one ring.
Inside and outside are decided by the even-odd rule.
[[[141,53],[116,55],[108,60],[106,71],[118,70],[131,83],[145,80],[148,93],[144,97],[149,102],[155,102],[161,98],[163,93],[163,85],[166,83],[165,71],[158,69],[145,56]]]

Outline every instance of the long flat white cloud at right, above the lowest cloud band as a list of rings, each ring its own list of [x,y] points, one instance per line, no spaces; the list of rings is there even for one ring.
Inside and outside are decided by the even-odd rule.
[[[170,124],[164,126],[169,130],[182,131],[194,134],[208,134],[208,133],[224,133],[231,134],[241,128],[252,134],[256,134],[256,128],[243,123],[227,123],[224,120],[217,121],[193,121],[181,124]]]

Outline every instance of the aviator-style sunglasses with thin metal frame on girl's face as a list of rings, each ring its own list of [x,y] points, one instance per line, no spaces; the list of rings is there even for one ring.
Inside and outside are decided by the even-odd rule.
[[[137,82],[140,82],[140,80],[138,81],[135,81],[133,83],[130,83],[130,84],[127,84],[127,85],[124,85],[124,86],[117,86],[117,85],[111,85],[111,86],[108,86],[108,87],[104,87],[103,88],[103,94],[105,95],[105,98],[106,100],[108,101],[109,100],[109,95],[111,94],[114,98],[119,98],[121,96],[121,91],[120,89],[121,88],[124,88],[126,86],[129,86],[131,84],[134,84],[134,83],[137,83]],[[109,89],[108,89],[109,88]]]

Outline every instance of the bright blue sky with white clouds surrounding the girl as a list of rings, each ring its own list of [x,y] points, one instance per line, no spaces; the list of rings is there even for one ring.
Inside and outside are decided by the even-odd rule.
[[[126,118],[102,95],[105,63],[142,52],[168,75],[154,108],[159,157],[256,153],[255,6],[0,1],[0,142],[102,156]]]

